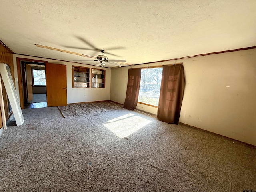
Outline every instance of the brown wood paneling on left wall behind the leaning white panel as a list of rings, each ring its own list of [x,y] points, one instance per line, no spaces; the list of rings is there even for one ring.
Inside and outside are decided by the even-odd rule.
[[[12,74],[12,80],[14,81],[14,65],[13,65],[13,58],[12,58],[12,51],[3,44],[2,41],[0,41],[0,63],[6,63],[10,66],[10,71]],[[5,116],[6,119],[9,118],[8,112],[9,112],[9,105],[7,100],[7,94],[6,90],[4,88],[4,84],[2,82],[2,91],[3,91],[3,98],[4,98],[4,109],[5,109]]]

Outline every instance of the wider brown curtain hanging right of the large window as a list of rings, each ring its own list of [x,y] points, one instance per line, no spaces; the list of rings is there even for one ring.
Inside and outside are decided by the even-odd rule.
[[[182,64],[163,66],[157,119],[178,124],[185,86]]]

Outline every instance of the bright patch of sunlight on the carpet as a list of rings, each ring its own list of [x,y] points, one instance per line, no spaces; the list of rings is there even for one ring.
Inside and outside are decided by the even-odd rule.
[[[150,122],[150,120],[129,113],[105,122],[104,126],[122,139],[136,132]]]

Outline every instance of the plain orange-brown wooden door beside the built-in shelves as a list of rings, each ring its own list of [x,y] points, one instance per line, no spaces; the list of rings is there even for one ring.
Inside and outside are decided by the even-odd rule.
[[[47,106],[67,105],[67,71],[66,65],[46,63]]]

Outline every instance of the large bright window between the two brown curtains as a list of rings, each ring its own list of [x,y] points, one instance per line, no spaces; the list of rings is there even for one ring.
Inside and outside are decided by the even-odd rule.
[[[142,69],[138,102],[158,106],[161,80],[162,67]]]

